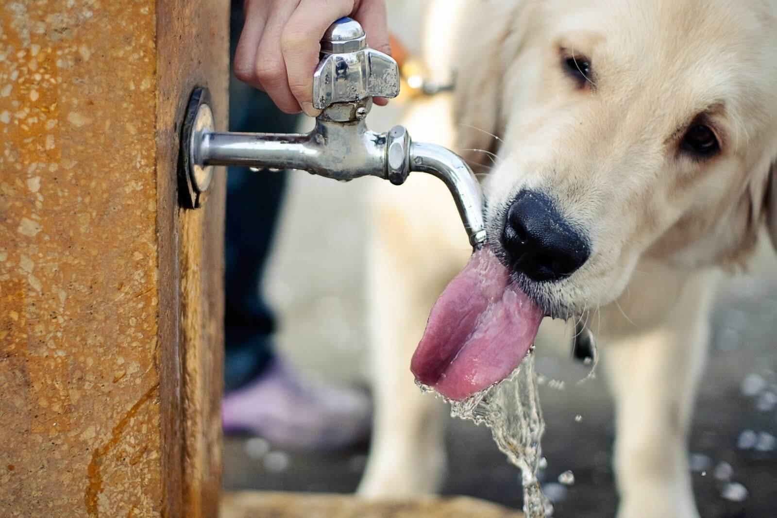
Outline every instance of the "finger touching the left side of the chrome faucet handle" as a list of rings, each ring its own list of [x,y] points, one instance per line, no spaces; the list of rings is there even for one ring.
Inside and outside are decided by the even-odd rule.
[[[357,0],[301,0],[281,37],[288,84],[294,98],[309,116],[313,108],[313,72],[319,64],[318,42],[333,21],[348,16]],[[315,42],[315,43],[313,43]]]

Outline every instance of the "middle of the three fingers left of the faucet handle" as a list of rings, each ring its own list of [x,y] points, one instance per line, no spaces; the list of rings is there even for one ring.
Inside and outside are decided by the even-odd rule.
[[[283,50],[280,47],[280,37],[284,26],[291,19],[299,0],[280,0],[276,2],[267,25],[264,27],[259,48],[254,60],[256,79],[275,106],[284,113],[298,113],[300,110],[297,99],[289,89],[286,64]]]

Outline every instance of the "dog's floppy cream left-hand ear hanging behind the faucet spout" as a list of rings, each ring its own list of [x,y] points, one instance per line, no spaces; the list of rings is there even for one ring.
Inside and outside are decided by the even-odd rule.
[[[514,56],[526,23],[519,10],[526,2],[515,2],[506,12],[504,2],[468,2],[458,28],[455,53],[456,149],[473,169],[490,165],[488,152],[495,152],[500,134],[503,78]],[[483,150],[483,151],[474,151]],[[487,151],[484,153],[484,151]]]

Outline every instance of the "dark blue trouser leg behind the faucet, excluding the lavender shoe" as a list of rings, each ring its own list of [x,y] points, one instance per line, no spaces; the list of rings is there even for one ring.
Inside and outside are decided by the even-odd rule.
[[[232,9],[232,57],[242,28],[242,7]],[[297,116],[280,112],[264,92],[230,75],[229,130],[294,131]],[[261,374],[273,357],[270,335],[275,329],[273,311],[260,294],[263,270],[287,172],[252,172],[231,167],[227,173],[225,235],[225,385],[226,390],[246,384]]]

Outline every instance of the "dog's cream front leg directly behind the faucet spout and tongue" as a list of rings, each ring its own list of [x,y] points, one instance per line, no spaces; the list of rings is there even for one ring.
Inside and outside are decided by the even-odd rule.
[[[444,471],[445,405],[421,393],[409,365],[430,308],[471,249],[458,221],[445,224],[458,216],[443,184],[426,176],[408,183],[382,189],[373,203],[367,289],[375,419],[358,490],[368,496],[437,492]]]

